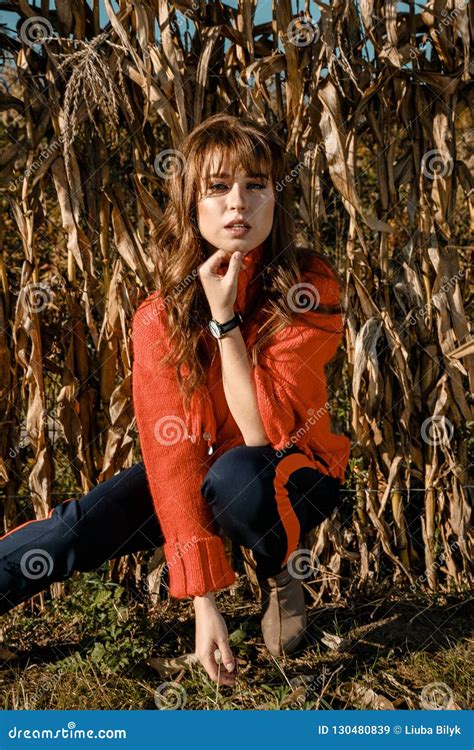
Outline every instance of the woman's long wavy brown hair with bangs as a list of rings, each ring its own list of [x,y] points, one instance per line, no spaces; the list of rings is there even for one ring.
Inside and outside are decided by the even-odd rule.
[[[262,269],[257,272],[262,294],[255,295],[253,309],[245,315],[247,321],[259,324],[256,343],[249,351],[254,363],[264,342],[291,323],[294,313],[287,295],[300,283],[312,258],[318,256],[327,275],[339,280],[331,259],[296,246],[288,191],[275,189],[284,184],[288,174],[284,143],[269,128],[244,117],[213,115],[195,127],[173,154],[173,168],[166,175],[169,201],[149,248],[155,266],[154,281],[164,300],[170,332],[171,354],[164,359],[176,367],[186,401],[196,387],[205,383],[217,352],[217,342],[211,340],[207,329],[209,304],[197,275],[207,254],[196,217],[202,180],[209,174],[214,157],[219,160],[217,171],[229,158],[232,170],[240,166],[248,175],[266,175],[274,187],[273,226],[263,243]],[[153,296],[149,301],[153,301]],[[340,307],[318,310],[336,313]]]

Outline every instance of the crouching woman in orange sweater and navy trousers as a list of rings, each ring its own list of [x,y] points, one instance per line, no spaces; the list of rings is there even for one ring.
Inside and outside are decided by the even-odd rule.
[[[341,338],[338,279],[296,248],[285,174],[283,144],[249,119],[215,115],[181,144],[153,247],[159,291],[133,321],[144,468],[0,541],[3,611],[73,570],[164,544],[170,594],[194,598],[196,654],[233,684],[214,598],[235,581],[223,532],[253,551],[269,651],[300,644],[303,590],[287,563],[336,507],[350,445],[330,431],[324,375]],[[27,575],[34,552],[48,556],[40,579]]]

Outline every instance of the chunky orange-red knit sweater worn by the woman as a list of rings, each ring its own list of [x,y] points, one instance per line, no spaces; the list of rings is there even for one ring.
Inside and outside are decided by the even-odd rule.
[[[256,248],[244,258],[235,304],[243,314],[260,291],[262,252],[262,247]],[[337,280],[328,278],[320,264],[317,258],[312,261],[304,282],[316,287],[321,306],[337,304]],[[324,365],[341,339],[341,315],[309,312],[295,318],[273,337],[252,368],[260,415],[275,449],[295,444],[315,468],[343,480],[350,441],[330,430],[324,375]],[[253,320],[244,319],[241,331],[248,349],[255,342],[256,328]],[[133,321],[133,402],[146,474],[165,537],[170,593],[181,598],[202,596],[235,580],[201,485],[212,463],[230,448],[244,445],[244,440],[227,406],[219,353],[206,387],[195,392],[185,411],[175,369],[159,364],[168,350],[164,302],[151,295]]]

